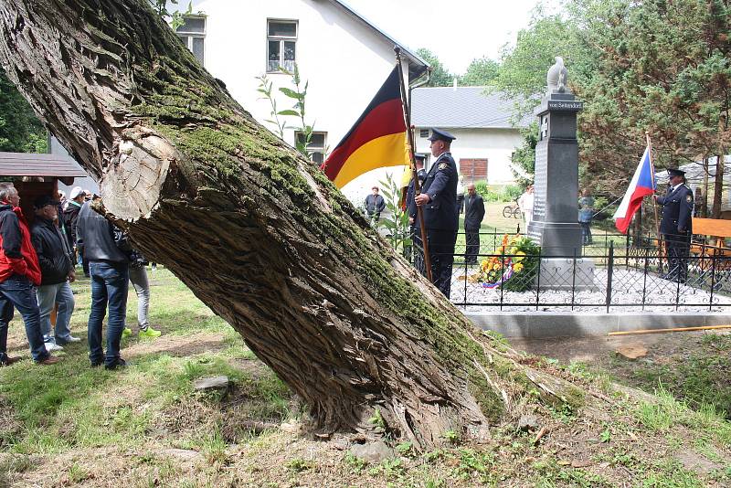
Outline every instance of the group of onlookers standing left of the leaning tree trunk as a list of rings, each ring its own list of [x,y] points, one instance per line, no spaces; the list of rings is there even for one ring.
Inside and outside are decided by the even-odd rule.
[[[81,341],[69,327],[75,307],[70,284],[76,281],[78,265],[91,283],[87,324],[91,366],[126,366],[120,344],[123,336],[132,334],[125,325],[130,281],[138,297],[139,336],[160,336],[148,319],[148,263],[120,228],[91,208],[94,198],[79,186],[70,191],[68,199],[63,192],[58,199],[38,196],[33,202],[33,224],[28,226],[16,187],[0,183],[0,366],[20,360],[7,355],[8,325],[14,310],[23,318],[37,364],[58,363],[54,352]],[[102,322],[107,313],[104,351]]]

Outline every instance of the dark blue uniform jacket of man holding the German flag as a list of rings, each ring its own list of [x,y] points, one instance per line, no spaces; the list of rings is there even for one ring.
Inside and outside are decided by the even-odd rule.
[[[429,195],[424,206],[424,226],[440,230],[457,230],[460,219],[457,207],[457,164],[450,153],[442,153],[429,168],[421,193]]]

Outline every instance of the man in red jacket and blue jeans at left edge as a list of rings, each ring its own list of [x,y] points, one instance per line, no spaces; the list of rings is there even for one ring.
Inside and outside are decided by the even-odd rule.
[[[16,187],[0,183],[0,366],[19,360],[7,355],[7,325],[13,319],[13,307],[23,316],[33,360],[53,365],[58,357],[48,354],[43,343],[34,289],[40,284],[40,266],[19,205]]]

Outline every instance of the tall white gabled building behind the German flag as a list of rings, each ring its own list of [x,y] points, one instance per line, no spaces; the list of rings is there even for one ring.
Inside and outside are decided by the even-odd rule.
[[[170,5],[175,10],[176,5]],[[278,111],[290,109],[294,101],[278,89],[291,88],[291,77],[280,68],[293,69],[296,62],[307,81],[305,121],[315,134],[310,150],[322,163],[347,133],[396,63],[394,46],[402,48],[405,80],[417,80],[428,64],[387,36],[364,17],[339,0],[268,0],[262,3],[230,0],[193,0],[195,16],[185,16],[178,27],[196,57],[231,95],[259,122],[271,119],[270,102],[258,91],[265,75],[277,94]],[[290,128],[284,140],[294,144],[299,124],[285,117]],[[396,170],[400,176],[401,170]],[[360,203],[370,186],[385,175],[376,170],[345,186],[345,195]]]

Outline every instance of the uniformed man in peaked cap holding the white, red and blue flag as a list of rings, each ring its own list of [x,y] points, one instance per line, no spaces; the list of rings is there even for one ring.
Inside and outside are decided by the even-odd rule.
[[[665,196],[655,196],[662,205],[660,232],[668,252],[666,280],[684,283],[688,278],[688,251],[693,235],[693,191],[685,185],[685,172],[669,169],[670,185]]]

